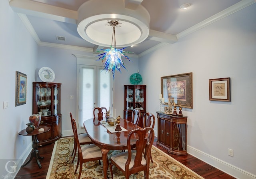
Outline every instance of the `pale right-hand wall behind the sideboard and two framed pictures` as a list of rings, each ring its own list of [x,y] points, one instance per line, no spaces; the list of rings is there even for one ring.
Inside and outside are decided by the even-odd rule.
[[[140,58],[147,111],[159,109],[161,76],[192,72],[193,109],[182,110],[188,116],[188,150],[206,155],[199,157],[217,167],[224,162],[256,177],[255,57],[253,4]],[[208,80],[226,77],[231,78],[231,102],[209,101]]]

